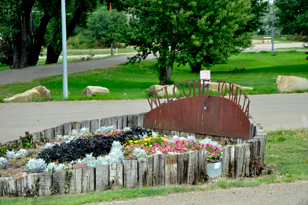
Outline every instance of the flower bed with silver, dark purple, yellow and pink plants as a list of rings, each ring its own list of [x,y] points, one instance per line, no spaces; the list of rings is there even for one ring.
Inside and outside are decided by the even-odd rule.
[[[207,161],[222,158],[222,146],[211,139],[197,140],[192,136],[161,136],[141,127],[125,128],[101,127],[95,134],[88,128],[75,130],[67,136],[57,136],[53,143],[47,142],[40,150],[30,152],[6,151],[0,158],[0,169],[13,170],[22,163],[21,171],[28,173],[53,173],[72,169],[73,164],[87,163],[88,167],[109,165],[130,159],[138,159],[151,154],[172,155],[189,151],[207,151]],[[39,142],[42,143],[42,142]],[[16,173],[14,173],[16,174]],[[17,173],[18,174],[18,173]],[[4,176],[8,176],[3,174]]]

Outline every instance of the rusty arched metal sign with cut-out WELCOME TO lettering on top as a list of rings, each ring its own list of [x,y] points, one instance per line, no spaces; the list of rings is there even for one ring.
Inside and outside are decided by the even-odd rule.
[[[201,85],[201,80],[170,85],[174,87],[173,99],[169,97],[167,87],[153,92],[151,99],[148,95],[151,111],[144,115],[143,126],[248,140],[248,97],[232,83],[210,80],[217,81],[217,96],[209,95],[209,89],[206,84]],[[180,84],[182,90],[177,94],[176,87],[181,89]],[[165,91],[165,99],[158,97],[160,91]],[[156,108],[153,108],[154,105]]]

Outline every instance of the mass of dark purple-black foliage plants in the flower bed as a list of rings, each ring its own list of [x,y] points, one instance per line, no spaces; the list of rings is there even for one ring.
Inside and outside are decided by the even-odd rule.
[[[121,134],[104,136],[102,134],[89,136],[88,138],[76,138],[70,142],[56,143],[51,147],[40,151],[38,158],[46,162],[51,161],[73,161],[86,157],[86,154],[93,154],[94,157],[108,155],[113,141],[124,143],[132,139],[132,136],[148,134],[148,131],[141,127],[133,127]]]

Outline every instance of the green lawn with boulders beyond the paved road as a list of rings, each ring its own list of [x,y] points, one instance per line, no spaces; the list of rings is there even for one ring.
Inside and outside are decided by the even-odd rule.
[[[226,80],[241,86],[253,87],[246,94],[275,94],[278,75],[308,78],[308,61],[304,52],[276,51],[261,53],[245,52],[235,55],[227,64],[210,68],[211,79]],[[159,84],[156,60],[142,61],[134,65],[117,65],[108,68],[87,70],[68,74],[67,100],[134,100],[145,99],[146,89]],[[245,68],[243,72],[232,73],[235,68]],[[191,73],[188,65],[174,65],[171,79],[174,82],[200,78],[199,73]],[[42,85],[51,91],[51,100],[62,100],[62,76],[35,79],[31,82],[15,82],[0,85],[0,102],[4,98]],[[110,95],[81,97],[82,90],[88,85],[107,87]],[[125,95],[126,94],[126,95]],[[46,99],[40,99],[40,101]],[[35,101],[35,100],[34,100]]]

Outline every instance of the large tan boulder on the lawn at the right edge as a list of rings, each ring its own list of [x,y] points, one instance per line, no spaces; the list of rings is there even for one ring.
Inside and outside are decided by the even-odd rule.
[[[308,79],[296,76],[278,76],[276,87],[279,92],[308,90]]]

